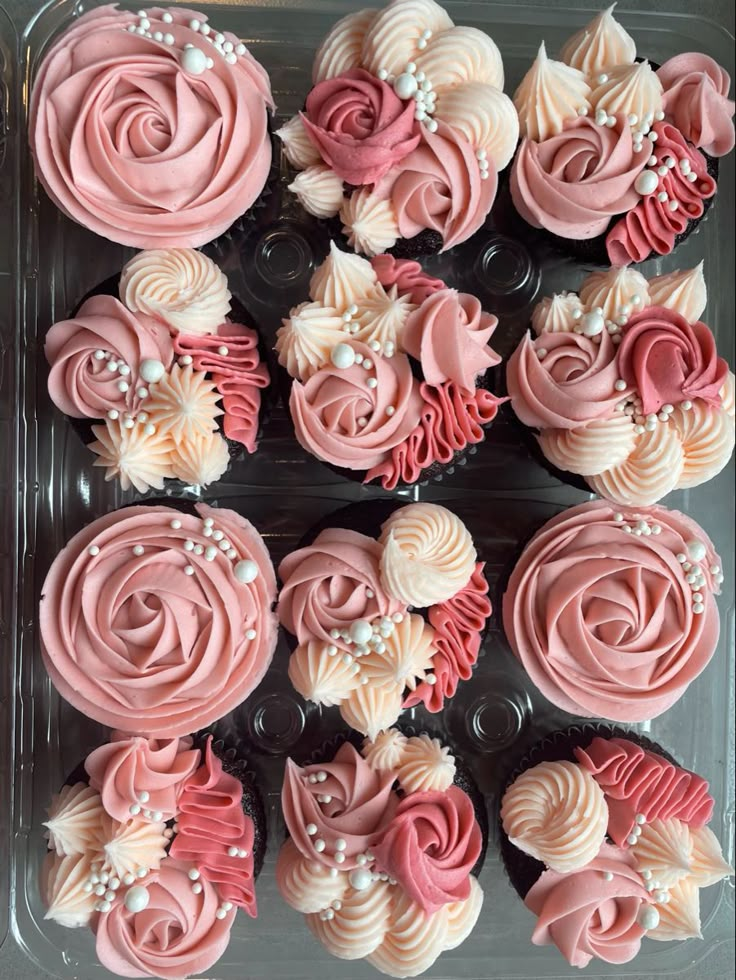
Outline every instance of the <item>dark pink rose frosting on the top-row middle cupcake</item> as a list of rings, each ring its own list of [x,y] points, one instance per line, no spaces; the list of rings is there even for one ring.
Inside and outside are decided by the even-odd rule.
[[[302,122],[325,163],[348,184],[373,184],[419,143],[413,100],[355,68],[318,82]]]

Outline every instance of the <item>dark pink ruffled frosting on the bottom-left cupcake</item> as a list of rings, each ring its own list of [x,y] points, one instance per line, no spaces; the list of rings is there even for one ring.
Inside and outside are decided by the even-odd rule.
[[[201,878],[217,888],[222,901],[232,902],[255,918],[253,821],[243,812],[242,797],[242,784],[223,772],[210,736],[202,765],[184,783],[169,857],[195,867]],[[231,856],[231,847],[245,851],[246,856]]]

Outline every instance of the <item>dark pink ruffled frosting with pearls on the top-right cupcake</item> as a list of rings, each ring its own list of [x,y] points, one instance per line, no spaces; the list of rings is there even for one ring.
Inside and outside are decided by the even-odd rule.
[[[689,181],[679,166],[668,168],[659,184],[659,193],[664,191],[667,200],[660,201],[657,194],[647,194],[606,236],[611,265],[643,262],[652,252],[669,255],[677,236],[685,231],[691,220],[702,216],[703,201],[716,192],[716,182],[708,173],[703,154],[690,146],[679,130],[669,123],[655,123],[652,128],[659,136],[657,158],[672,157],[678,162],[688,160],[697,180]],[[647,153],[640,156],[647,157]],[[672,201],[677,201],[674,211],[670,208]]]

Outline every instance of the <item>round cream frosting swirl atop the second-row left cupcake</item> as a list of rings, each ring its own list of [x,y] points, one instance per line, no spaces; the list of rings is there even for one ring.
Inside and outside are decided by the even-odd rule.
[[[230,312],[227,277],[194,248],[139,252],[120,274],[120,299],[187,334],[216,333]]]

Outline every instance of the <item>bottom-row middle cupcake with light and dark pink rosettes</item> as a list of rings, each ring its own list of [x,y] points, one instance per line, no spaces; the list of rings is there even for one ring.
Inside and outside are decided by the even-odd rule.
[[[483,797],[426,734],[388,729],[328,758],[286,763],[279,891],[333,956],[417,976],[480,915]]]

